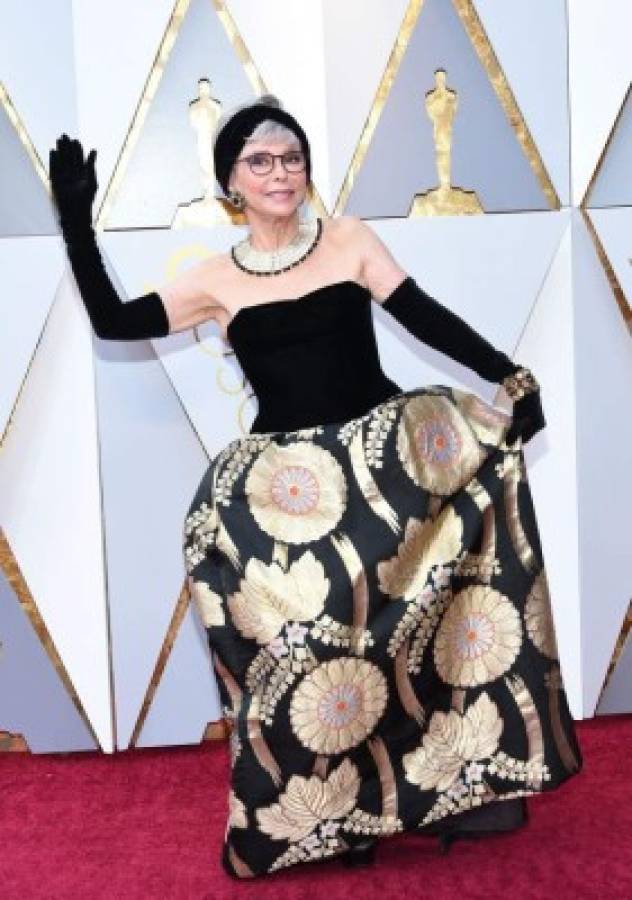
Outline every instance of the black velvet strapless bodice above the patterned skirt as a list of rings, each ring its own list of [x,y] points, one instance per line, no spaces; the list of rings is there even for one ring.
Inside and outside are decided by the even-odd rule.
[[[400,392],[382,371],[371,304],[340,281],[239,310],[226,333],[259,402],[251,433],[346,421]]]

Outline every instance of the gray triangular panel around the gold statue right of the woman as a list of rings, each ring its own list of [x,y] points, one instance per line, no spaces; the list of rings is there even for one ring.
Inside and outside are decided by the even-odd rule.
[[[426,92],[445,69],[456,91],[453,187],[475,191],[485,212],[549,209],[542,188],[449,0],[426,0],[354,180],[344,212],[407,216],[415,194],[438,184]]]

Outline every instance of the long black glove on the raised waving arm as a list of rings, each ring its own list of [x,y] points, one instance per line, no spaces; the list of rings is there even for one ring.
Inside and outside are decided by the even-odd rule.
[[[77,287],[100,338],[141,340],[169,334],[162,298],[152,291],[123,302],[103,265],[92,227],[97,192],[96,150],[84,160],[79,141],[66,134],[50,151],[50,182]]]

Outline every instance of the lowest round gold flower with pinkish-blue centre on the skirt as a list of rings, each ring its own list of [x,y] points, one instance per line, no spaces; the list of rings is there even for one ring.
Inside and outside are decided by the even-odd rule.
[[[294,692],[292,728],[314,753],[341,753],[371,733],[387,697],[377,666],[356,657],[331,659],[306,675]]]

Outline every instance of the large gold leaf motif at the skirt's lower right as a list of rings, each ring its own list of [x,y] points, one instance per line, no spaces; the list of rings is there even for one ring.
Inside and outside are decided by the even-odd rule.
[[[498,707],[485,692],[464,715],[456,710],[436,712],[421,747],[403,757],[406,778],[422,791],[445,791],[466,763],[496,752],[502,730]]]

